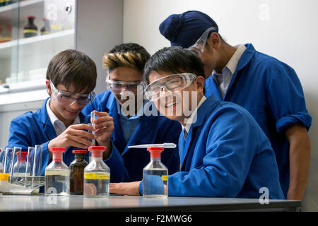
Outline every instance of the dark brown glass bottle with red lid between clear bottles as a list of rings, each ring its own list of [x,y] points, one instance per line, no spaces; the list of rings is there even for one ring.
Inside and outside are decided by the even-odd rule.
[[[73,162],[70,163],[70,194],[83,195],[84,191],[84,169],[88,165],[85,160],[87,150],[73,150],[75,154]]]

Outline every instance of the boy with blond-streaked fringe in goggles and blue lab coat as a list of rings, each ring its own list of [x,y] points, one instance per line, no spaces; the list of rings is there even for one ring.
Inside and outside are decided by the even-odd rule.
[[[109,69],[108,90],[97,95],[93,103],[83,109],[84,114],[97,110],[108,112],[112,117],[114,132],[107,153],[110,160],[115,153],[122,157],[122,167],[128,172],[127,182],[141,180],[143,167],[150,161],[146,148],[128,148],[129,145],[177,143],[181,131],[177,121],[160,116],[151,102],[143,101],[143,67],[149,57],[146,49],[135,43],[119,44],[110,50],[102,59],[103,66]],[[177,172],[177,148],[163,153],[162,161],[169,174]]]

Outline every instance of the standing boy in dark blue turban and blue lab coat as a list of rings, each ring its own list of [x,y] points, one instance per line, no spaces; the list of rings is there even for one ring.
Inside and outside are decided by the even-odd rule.
[[[199,55],[206,76],[206,97],[247,109],[271,141],[285,197],[302,199],[310,169],[310,129],[302,86],[295,71],[252,44],[231,46],[205,13],[172,14],[160,24],[172,46]]]

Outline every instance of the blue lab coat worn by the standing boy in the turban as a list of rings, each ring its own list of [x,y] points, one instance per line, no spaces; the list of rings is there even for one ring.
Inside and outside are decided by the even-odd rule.
[[[278,163],[285,197],[289,186],[289,142],[285,130],[294,124],[310,129],[302,86],[295,71],[287,64],[257,52],[245,44],[232,81],[223,98],[247,109],[271,141]],[[212,76],[206,79],[206,96],[222,99]]]

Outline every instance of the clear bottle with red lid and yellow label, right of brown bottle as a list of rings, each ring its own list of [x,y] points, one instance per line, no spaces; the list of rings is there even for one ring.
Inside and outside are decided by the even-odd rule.
[[[92,157],[84,169],[84,196],[110,196],[110,168],[102,160],[104,146],[90,146]]]

